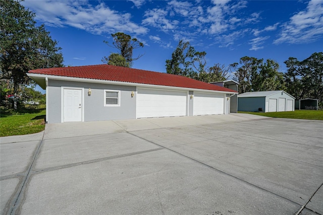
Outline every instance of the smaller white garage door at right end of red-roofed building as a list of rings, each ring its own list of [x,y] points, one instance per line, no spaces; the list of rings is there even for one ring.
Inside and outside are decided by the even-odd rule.
[[[224,95],[194,92],[193,115],[223,114]]]

